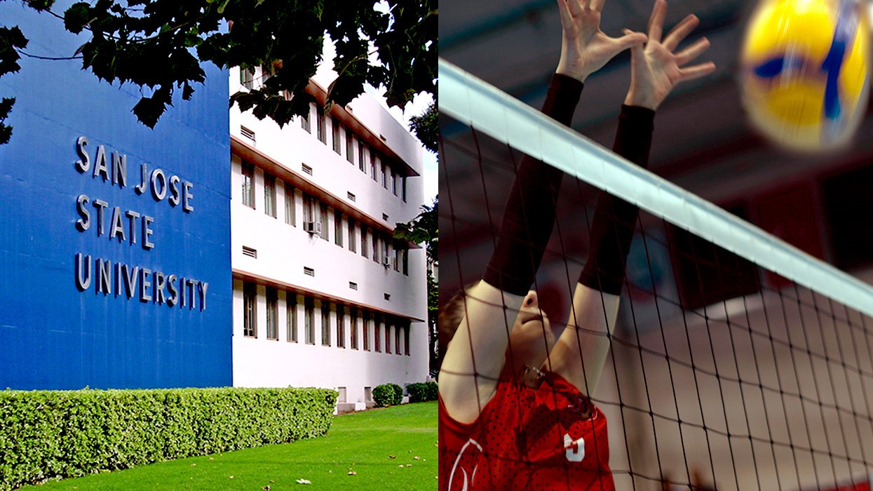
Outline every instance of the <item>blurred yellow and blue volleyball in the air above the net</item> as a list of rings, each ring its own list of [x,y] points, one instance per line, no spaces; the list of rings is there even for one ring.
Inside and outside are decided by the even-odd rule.
[[[787,149],[848,143],[867,104],[869,32],[855,0],[763,0],[740,57],[753,126]]]

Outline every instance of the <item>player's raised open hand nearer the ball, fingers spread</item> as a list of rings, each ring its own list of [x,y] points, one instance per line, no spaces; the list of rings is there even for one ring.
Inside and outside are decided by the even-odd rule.
[[[685,17],[662,40],[666,15],[666,0],[656,0],[649,19],[649,41],[645,47],[633,45],[630,48],[630,88],[624,99],[628,106],[656,110],[679,82],[697,79],[715,70],[715,64],[711,61],[684,66],[709,48],[706,38],[699,38],[681,52],[673,52],[698,26],[698,17],[693,14]],[[626,35],[631,33],[629,30],[624,32]]]

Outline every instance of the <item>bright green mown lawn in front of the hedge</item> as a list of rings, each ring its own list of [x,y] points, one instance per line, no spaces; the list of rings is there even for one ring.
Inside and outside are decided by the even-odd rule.
[[[436,403],[430,402],[337,416],[318,439],[22,489],[436,489],[436,459]]]

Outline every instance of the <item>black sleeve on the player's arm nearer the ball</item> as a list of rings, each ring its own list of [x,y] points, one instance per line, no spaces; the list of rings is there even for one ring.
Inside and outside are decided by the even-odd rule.
[[[649,166],[655,111],[622,106],[613,150],[641,167]],[[637,208],[606,192],[597,198],[591,219],[588,261],[579,282],[607,294],[621,294],[630,241],[636,228]]]

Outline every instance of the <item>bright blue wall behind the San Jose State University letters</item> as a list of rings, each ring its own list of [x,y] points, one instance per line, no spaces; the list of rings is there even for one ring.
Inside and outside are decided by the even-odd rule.
[[[40,56],[71,56],[87,39],[18,2],[0,2],[0,24],[19,25],[31,40],[25,51]],[[0,389],[230,385],[227,72],[204,65],[206,86],[196,86],[193,100],[175,101],[152,130],[131,113],[138,88],[100,82],[80,60],[19,63],[18,73],[0,79],[0,97],[17,98],[7,121],[12,139],[0,146]],[[85,173],[76,167],[79,136],[89,141]],[[127,156],[127,186],[93,176],[100,145],[107,157]],[[191,183],[193,211],[137,194],[143,163],[149,173],[160,168]],[[85,232],[76,226],[83,194],[91,218]],[[95,199],[108,204],[102,236]],[[126,241],[117,231],[109,238],[115,206],[154,218],[153,249],[142,247],[141,219],[134,218],[136,244],[127,217]],[[76,254],[91,258],[85,291],[77,287]],[[112,263],[111,293],[99,291],[97,259]],[[156,303],[154,273],[146,291],[152,301],[141,301],[140,278],[128,298],[124,281],[115,283],[116,264],[208,283],[205,309],[199,291],[193,306]]]

